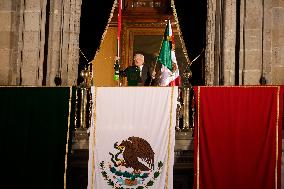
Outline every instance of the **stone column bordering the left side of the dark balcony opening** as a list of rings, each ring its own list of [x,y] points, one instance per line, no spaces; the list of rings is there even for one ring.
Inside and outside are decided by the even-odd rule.
[[[81,3],[81,0],[52,1],[47,85],[55,86],[55,77],[61,79],[61,85],[76,85]]]

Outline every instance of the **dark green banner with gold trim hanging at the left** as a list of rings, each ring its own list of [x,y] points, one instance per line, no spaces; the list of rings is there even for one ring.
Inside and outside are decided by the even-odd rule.
[[[0,87],[2,186],[65,188],[70,92],[68,87]]]

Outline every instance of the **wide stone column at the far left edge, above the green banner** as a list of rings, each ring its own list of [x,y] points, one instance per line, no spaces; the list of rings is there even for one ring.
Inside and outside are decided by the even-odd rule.
[[[0,84],[42,83],[46,0],[0,0]]]

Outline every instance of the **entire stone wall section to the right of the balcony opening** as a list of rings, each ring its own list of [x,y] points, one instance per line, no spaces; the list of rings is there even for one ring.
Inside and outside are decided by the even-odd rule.
[[[240,85],[258,85],[262,75],[267,84],[284,84],[284,1],[265,0],[262,4],[259,0],[241,0],[238,72],[235,71],[236,0],[223,0],[223,30],[218,30],[215,17],[217,2],[208,1],[206,83],[218,85],[218,70],[223,69],[224,85],[234,85],[236,73]],[[216,43],[218,36],[223,40],[221,52]],[[218,55],[222,58],[221,65],[216,62]]]

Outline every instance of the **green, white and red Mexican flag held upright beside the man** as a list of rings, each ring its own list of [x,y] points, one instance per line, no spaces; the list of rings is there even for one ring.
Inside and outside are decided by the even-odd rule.
[[[167,21],[158,60],[162,64],[161,75],[158,82],[159,85],[180,86],[181,78],[175,55],[174,35],[170,20]]]

